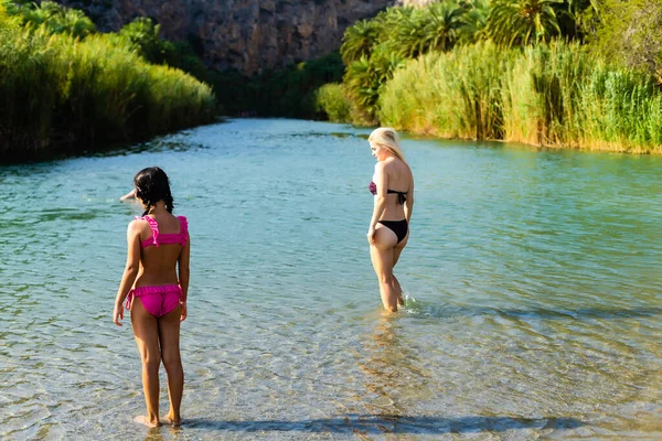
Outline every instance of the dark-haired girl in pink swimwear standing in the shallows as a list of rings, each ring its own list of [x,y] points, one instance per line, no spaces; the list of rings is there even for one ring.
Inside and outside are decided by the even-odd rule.
[[[191,241],[186,218],[172,215],[170,182],[163,170],[143,169],[134,178],[136,198],[145,213],[129,224],[127,265],[117,290],[113,321],[121,326],[122,303],[131,311],[131,325],[142,359],[142,388],[147,416],[136,421],[149,427],[159,421],[159,367],[168,374],[168,420],[180,426],[184,373],[180,357],[180,322],[186,318]]]

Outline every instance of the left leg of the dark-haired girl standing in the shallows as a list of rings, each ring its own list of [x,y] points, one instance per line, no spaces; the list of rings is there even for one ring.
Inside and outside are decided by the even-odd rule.
[[[140,299],[131,303],[131,325],[142,359],[142,389],[147,404],[147,417],[138,417],[137,421],[146,426],[159,426],[159,326],[157,318],[145,310]]]

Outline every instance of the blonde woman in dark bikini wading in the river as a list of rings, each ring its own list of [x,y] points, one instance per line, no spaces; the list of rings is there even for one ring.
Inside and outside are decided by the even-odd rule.
[[[395,312],[404,302],[403,290],[393,275],[393,267],[409,240],[414,176],[395,130],[381,127],[370,135],[367,141],[372,155],[377,159],[369,186],[375,195],[367,228],[370,257],[380,282],[382,303],[387,311]]]

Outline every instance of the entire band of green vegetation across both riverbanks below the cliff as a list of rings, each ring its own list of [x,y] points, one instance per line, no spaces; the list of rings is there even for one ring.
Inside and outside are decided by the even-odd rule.
[[[0,0],[0,161],[95,151],[216,115],[662,153],[659,22],[662,0],[391,7],[349,26],[339,51],[249,77],[209,69],[148,18],[102,33],[55,2]]]

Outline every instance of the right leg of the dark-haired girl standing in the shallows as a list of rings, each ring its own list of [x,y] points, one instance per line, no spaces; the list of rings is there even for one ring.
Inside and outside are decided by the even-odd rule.
[[[173,426],[180,426],[182,417],[180,406],[184,391],[184,369],[180,355],[180,316],[182,308],[177,306],[173,311],[159,319],[159,336],[161,337],[161,356],[163,366],[168,373],[168,395],[170,397],[170,411],[168,418]]]

